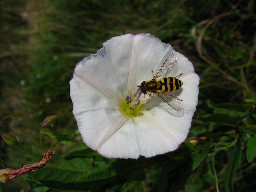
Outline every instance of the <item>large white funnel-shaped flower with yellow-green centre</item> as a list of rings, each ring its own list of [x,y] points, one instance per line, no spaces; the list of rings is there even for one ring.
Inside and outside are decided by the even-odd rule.
[[[158,97],[143,98],[130,110],[143,81],[152,79],[164,60],[175,52],[150,34],[126,34],[103,43],[96,54],[76,65],[70,81],[79,132],[85,144],[110,158],[152,157],[173,151],[186,139],[198,100],[199,76],[193,64],[177,53],[177,77],[183,85],[174,91],[184,111],[176,111]],[[143,102],[142,102],[143,101]],[[137,103],[136,103],[137,104]]]

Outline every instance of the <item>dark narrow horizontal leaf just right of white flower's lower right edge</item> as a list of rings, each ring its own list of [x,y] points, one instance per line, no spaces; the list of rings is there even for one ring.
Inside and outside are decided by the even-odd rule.
[[[226,114],[209,114],[201,116],[201,118],[210,122],[236,124],[238,121],[242,120],[243,117],[232,117]]]

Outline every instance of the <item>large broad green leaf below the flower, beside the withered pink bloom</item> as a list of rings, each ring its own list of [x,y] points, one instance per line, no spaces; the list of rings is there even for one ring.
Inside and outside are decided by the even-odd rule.
[[[84,152],[80,151],[80,156],[79,152],[72,152],[62,158],[60,166],[46,165],[29,175],[54,190],[89,190],[124,182],[136,166],[135,160],[119,159],[103,167],[92,168],[91,158]]]

